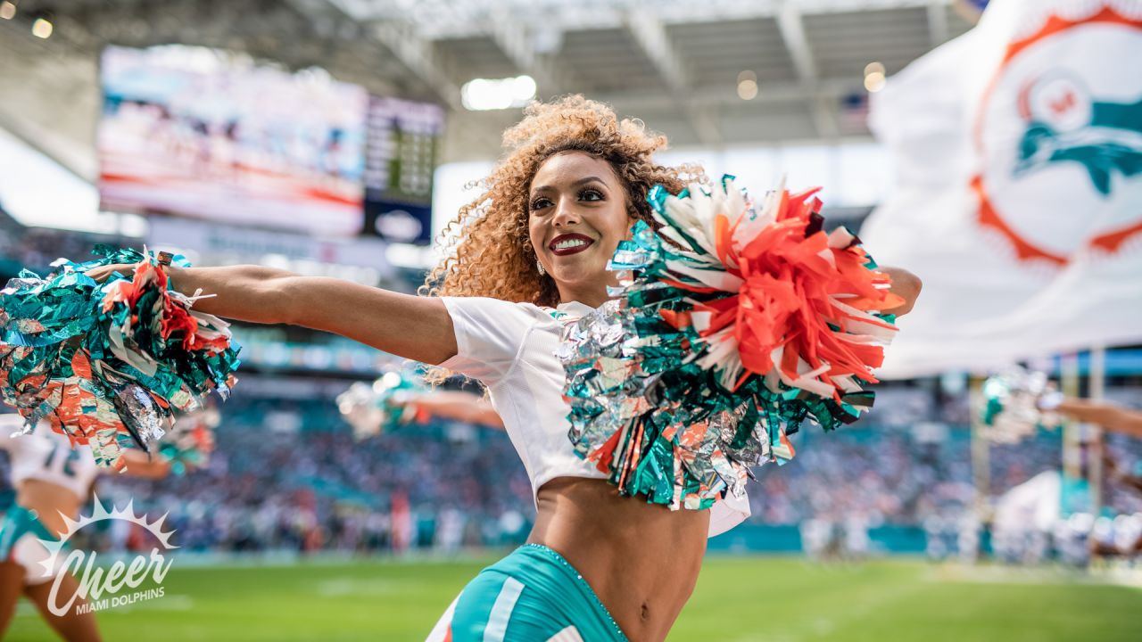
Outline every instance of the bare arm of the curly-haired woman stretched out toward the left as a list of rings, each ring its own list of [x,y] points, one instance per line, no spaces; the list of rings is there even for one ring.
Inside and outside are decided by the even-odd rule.
[[[258,265],[164,270],[176,290],[214,295],[198,300],[194,308],[217,316],[333,332],[429,364],[457,351],[452,319],[436,298]],[[110,265],[88,274],[100,280],[115,271],[129,273],[131,266]]]

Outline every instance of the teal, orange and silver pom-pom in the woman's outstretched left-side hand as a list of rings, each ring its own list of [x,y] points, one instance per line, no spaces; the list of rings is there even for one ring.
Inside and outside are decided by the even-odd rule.
[[[27,422],[48,422],[96,463],[122,468],[122,448],[147,448],[172,423],[234,383],[228,323],[192,308],[138,250],[96,247],[102,258],[59,259],[47,278],[23,271],[0,291],[0,395]],[[185,259],[176,257],[180,265]],[[94,267],[135,264],[104,283]],[[25,431],[26,432],[26,431]]]

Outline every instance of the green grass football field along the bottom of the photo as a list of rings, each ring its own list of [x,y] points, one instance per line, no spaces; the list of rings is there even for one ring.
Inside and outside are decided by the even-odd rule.
[[[163,597],[103,611],[99,627],[131,642],[421,640],[489,561],[180,568],[176,559]],[[1129,584],[916,560],[710,556],[669,640],[1137,641],[1142,588]],[[23,603],[7,639],[54,637]]]

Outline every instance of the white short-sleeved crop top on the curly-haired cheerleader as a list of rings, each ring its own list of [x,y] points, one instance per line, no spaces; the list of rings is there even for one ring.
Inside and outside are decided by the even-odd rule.
[[[564,323],[592,311],[572,302],[554,319],[530,303],[485,297],[441,297],[456,329],[456,356],[441,363],[488,386],[492,407],[523,460],[534,499],[555,478],[606,479],[593,462],[580,459],[568,432],[570,407],[563,400],[563,364],[555,356]],[[746,497],[718,500],[710,508],[709,536],[749,516]]]

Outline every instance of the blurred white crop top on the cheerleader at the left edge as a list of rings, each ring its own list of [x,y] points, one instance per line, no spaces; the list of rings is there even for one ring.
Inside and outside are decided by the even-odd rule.
[[[99,466],[95,463],[91,448],[72,448],[66,435],[51,430],[47,422],[40,422],[29,434],[17,434],[24,428],[19,415],[0,415],[0,448],[9,454],[11,484],[24,480],[41,480],[62,485],[81,500],[87,498]]]

